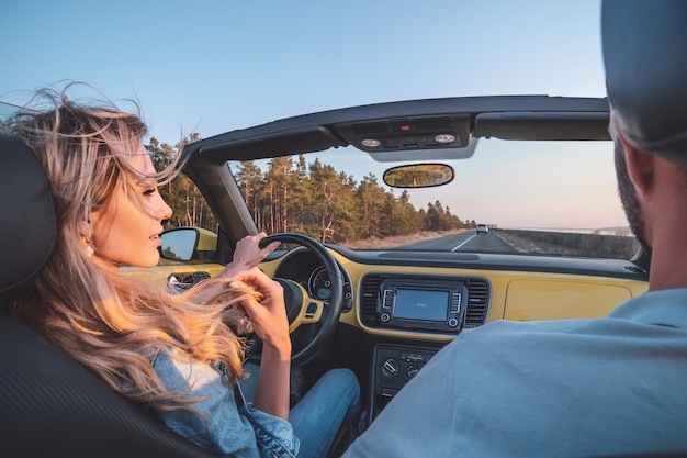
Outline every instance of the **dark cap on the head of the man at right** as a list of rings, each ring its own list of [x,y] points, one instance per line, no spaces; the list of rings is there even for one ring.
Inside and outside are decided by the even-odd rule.
[[[601,41],[628,139],[687,166],[687,1],[604,0]]]

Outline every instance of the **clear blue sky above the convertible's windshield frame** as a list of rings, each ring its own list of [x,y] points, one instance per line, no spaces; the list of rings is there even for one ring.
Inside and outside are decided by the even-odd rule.
[[[85,81],[137,99],[151,135],[174,144],[394,100],[602,97],[599,16],[599,0],[8,0],[0,100]],[[624,223],[618,205],[598,213],[597,227]]]

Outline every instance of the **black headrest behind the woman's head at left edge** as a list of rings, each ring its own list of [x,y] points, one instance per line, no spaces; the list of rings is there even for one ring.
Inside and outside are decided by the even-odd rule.
[[[47,178],[31,148],[0,135],[0,292],[41,269],[56,238]]]

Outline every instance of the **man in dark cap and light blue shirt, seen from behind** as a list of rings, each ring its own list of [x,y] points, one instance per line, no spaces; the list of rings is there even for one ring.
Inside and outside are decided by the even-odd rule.
[[[687,451],[687,2],[605,0],[618,188],[649,292],[606,319],[463,331],[352,444],[357,457]]]

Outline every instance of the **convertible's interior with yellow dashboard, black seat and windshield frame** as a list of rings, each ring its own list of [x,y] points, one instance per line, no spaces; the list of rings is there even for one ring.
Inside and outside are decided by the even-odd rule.
[[[608,101],[601,98],[471,97],[337,109],[202,138],[183,148],[182,171],[212,209],[215,223],[170,228],[162,236],[160,266],[122,270],[159,281],[161,288],[189,288],[218,273],[232,260],[237,241],[267,231],[266,242],[282,245],[259,267],[284,287],[292,365],[303,369],[306,381],[333,367],[353,370],[364,411],[359,428],[364,429],[459,333],[497,320],[605,316],[646,291],[647,259],[628,234],[607,236],[597,231],[581,238],[578,245],[588,239],[597,246],[608,239],[627,247],[621,254],[583,256],[567,248],[549,250],[553,238],[537,242],[536,231],[508,231],[480,215],[484,228],[475,231],[470,214],[458,230],[393,246],[359,248],[340,228],[304,234],[295,223],[273,232],[247,202],[241,167],[269,167],[274,159],[296,157],[318,165],[325,154],[344,167],[364,159],[379,167],[390,188],[410,196],[429,192],[418,198],[425,202],[437,200],[431,192],[455,186],[451,188],[455,196],[477,201],[484,197],[486,206],[491,174],[498,180],[507,176],[494,166],[468,171],[466,165],[482,164],[489,145],[510,148],[498,164],[518,179],[511,187],[516,194],[529,187],[527,178],[515,176],[517,169],[531,160],[551,159],[543,167],[553,174],[556,160],[563,160],[558,152],[572,144],[585,152],[579,154],[601,149],[604,160],[612,163],[608,122]],[[538,145],[548,149],[534,158]],[[4,292],[31,278],[49,257],[55,215],[31,150],[5,136],[0,149],[5,163],[0,169],[0,292]],[[468,174],[482,174],[481,185],[460,188],[472,179]],[[347,179],[339,175],[339,181]],[[584,177],[576,181],[586,186]],[[547,192],[532,191],[539,197]],[[616,199],[615,188],[610,193]],[[567,191],[566,197],[572,200],[572,194]],[[328,209],[336,206],[337,196],[335,191],[327,201]],[[519,204],[507,203],[508,198],[503,196],[504,208],[517,211]],[[301,209],[303,214],[315,212],[315,203]],[[451,210],[461,211],[453,205]],[[548,211],[542,208],[540,213]],[[70,457],[212,456],[121,399],[5,313],[0,313],[0,428],[7,437],[0,455],[47,456],[60,450]],[[251,357],[259,358],[259,348]]]

